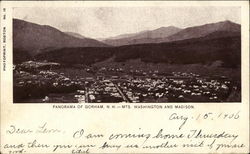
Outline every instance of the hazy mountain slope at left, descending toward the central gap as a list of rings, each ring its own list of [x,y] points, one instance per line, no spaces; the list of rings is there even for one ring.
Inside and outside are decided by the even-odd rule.
[[[89,38],[77,38],[48,25],[40,25],[13,19],[14,48],[35,55],[47,48],[62,47],[107,47],[108,45]]]

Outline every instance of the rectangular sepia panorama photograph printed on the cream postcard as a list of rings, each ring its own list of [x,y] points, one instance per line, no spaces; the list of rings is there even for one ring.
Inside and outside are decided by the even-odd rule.
[[[13,8],[13,103],[241,102],[241,8]]]

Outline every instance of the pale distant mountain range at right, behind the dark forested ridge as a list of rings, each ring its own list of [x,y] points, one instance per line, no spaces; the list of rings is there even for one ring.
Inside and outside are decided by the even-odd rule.
[[[181,29],[174,26],[161,27],[151,31],[142,31],[134,34],[119,35],[103,40],[104,43],[112,46],[122,46],[131,44],[145,44],[145,43],[161,43],[171,42],[177,40],[185,40],[191,38],[204,37],[210,33],[223,31],[226,33],[240,32],[241,26],[231,21],[222,21],[217,23],[205,24],[201,26],[188,27]],[[228,34],[226,34],[228,35]]]

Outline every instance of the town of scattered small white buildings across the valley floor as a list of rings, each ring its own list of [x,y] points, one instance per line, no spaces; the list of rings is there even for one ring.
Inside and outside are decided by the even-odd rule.
[[[238,91],[225,76],[85,67],[91,76],[57,72],[58,63],[14,66],[14,101],[44,103],[222,102]],[[115,72],[115,73],[114,73]]]

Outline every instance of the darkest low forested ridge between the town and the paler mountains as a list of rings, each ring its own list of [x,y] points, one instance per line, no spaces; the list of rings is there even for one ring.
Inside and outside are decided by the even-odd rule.
[[[146,63],[204,64],[219,61],[225,67],[235,68],[241,63],[239,36],[193,38],[167,43],[138,44],[119,47],[61,48],[36,55],[65,65],[92,65],[108,59],[110,63],[139,59]]]

